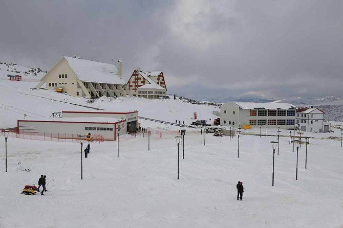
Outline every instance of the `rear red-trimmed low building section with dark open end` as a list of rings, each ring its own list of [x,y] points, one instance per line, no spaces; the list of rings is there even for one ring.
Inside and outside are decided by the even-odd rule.
[[[126,120],[125,131],[132,133],[137,130],[138,126],[138,111],[114,112],[114,111],[62,111],[63,118],[116,118]]]

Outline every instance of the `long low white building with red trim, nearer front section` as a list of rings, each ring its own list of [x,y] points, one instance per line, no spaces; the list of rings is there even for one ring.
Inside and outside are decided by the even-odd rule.
[[[116,140],[119,135],[126,134],[126,120],[115,118],[45,118],[39,120],[18,120],[17,133],[54,133],[68,134],[77,139],[77,135],[101,135],[103,140]]]

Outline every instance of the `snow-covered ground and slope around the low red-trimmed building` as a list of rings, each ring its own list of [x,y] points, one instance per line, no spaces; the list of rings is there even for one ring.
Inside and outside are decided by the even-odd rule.
[[[139,110],[143,117],[189,124],[198,119],[213,121],[215,107],[181,100],[139,98],[87,99],[61,95],[45,89],[31,90],[36,82],[0,80],[0,128],[15,127],[17,119],[49,117],[53,111],[87,109]],[[67,103],[66,103],[67,102]],[[68,103],[69,102],[69,103]],[[264,137],[259,129],[245,130],[229,141],[199,129],[187,129],[185,159],[180,149],[177,179],[179,128],[155,122],[151,150],[146,134],[120,136],[117,142],[91,143],[83,159],[80,179],[80,144],[8,139],[8,173],[5,173],[5,140],[0,139],[0,227],[343,227],[342,122],[333,122],[332,133],[311,136],[308,167],[305,146],[296,152],[289,131],[282,130],[280,153],[275,155],[275,186],[271,186],[274,129]],[[162,139],[156,131],[162,132]],[[30,172],[22,170],[32,170]],[[21,195],[26,184],[37,184],[47,175],[45,196]],[[237,181],[244,195],[237,201]]]

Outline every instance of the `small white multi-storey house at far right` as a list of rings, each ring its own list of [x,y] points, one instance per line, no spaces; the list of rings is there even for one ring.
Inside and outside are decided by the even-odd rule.
[[[313,106],[296,109],[296,125],[302,131],[328,132],[331,124],[324,120],[324,111]]]

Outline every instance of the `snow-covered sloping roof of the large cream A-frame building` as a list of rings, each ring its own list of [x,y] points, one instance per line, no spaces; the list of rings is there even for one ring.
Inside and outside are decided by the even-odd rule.
[[[124,85],[114,64],[65,56],[78,79],[85,82],[98,82]]]

